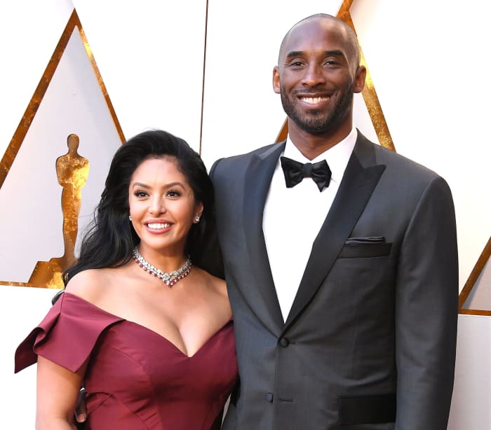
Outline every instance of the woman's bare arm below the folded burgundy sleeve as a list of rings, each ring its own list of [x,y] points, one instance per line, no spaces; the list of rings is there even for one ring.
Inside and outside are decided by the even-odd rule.
[[[74,410],[87,362],[76,372],[38,356],[36,430],[76,430]]]

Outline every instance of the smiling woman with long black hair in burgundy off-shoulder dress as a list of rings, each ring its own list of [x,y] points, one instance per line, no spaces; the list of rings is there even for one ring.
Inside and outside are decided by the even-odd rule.
[[[222,279],[198,268],[213,186],[185,141],[161,130],[123,144],[65,293],[18,347],[37,359],[36,429],[218,429],[236,380]]]

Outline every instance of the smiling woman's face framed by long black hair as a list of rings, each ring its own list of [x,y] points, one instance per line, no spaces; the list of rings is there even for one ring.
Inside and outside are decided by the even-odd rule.
[[[203,204],[196,202],[174,158],[144,160],[131,176],[128,202],[140,252],[184,254],[187,234]]]

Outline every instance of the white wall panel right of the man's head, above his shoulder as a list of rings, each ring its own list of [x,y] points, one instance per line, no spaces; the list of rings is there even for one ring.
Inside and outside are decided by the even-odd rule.
[[[452,190],[461,289],[491,235],[484,5],[377,0],[351,8],[397,152],[438,172]]]

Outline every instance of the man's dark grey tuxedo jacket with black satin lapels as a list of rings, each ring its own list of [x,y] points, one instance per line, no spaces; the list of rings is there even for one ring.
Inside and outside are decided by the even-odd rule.
[[[458,296],[447,183],[358,132],[283,323],[262,233],[283,148],[210,171],[241,379],[224,429],[446,429]]]

